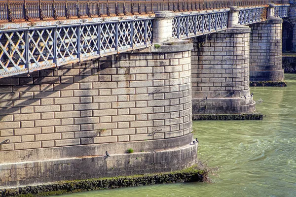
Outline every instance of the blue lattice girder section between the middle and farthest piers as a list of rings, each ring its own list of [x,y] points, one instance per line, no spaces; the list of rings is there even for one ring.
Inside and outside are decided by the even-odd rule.
[[[238,23],[248,25],[265,21],[267,18],[267,6],[243,8],[238,14]]]

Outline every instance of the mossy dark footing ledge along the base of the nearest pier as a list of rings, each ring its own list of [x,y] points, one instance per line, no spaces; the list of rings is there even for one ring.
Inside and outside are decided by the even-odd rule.
[[[91,190],[144,186],[159,183],[203,181],[204,177],[207,177],[207,171],[194,165],[174,172],[59,181],[46,185],[0,189],[0,195],[1,197],[45,197]]]

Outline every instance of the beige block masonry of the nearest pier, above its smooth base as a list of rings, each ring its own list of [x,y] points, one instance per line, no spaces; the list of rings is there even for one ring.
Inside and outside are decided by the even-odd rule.
[[[0,155],[188,134],[190,55],[119,54],[0,79]]]

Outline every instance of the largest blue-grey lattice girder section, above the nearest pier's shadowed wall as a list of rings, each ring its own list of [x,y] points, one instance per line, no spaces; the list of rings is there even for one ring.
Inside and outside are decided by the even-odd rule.
[[[0,78],[148,47],[153,19],[0,31]]]

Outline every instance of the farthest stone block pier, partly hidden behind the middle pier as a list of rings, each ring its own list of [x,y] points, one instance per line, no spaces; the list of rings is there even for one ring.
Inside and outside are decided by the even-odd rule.
[[[250,80],[282,81],[282,19],[250,25]]]

